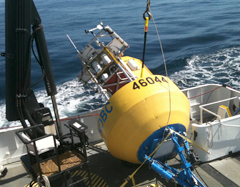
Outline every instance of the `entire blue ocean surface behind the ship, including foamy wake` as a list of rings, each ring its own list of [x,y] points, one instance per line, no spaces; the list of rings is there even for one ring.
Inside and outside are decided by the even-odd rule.
[[[42,19],[58,94],[61,117],[101,107],[103,98],[77,81],[79,50],[92,39],[85,30],[109,25],[129,45],[125,55],[142,59],[146,0],[35,0]],[[180,89],[206,83],[240,89],[240,1],[152,0],[151,11],[161,38],[168,75]],[[0,52],[5,51],[5,1],[0,0]],[[153,21],[149,22],[145,64],[165,75]],[[41,71],[32,61],[32,82]],[[0,58],[0,127],[16,125],[5,119],[5,59]],[[39,102],[51,108],[44,84],[34,87]]]

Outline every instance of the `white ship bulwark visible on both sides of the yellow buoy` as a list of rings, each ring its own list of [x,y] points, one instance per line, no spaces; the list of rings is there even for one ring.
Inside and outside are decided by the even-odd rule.
[[[192,131],[188,132],[189,136],[194,143],[208,152],[193,146],[194,153],[200,157],[201,161],[208,162],[240,151],[240,115],[226,116],[221,119],[218,114],[221,105],[229,108],[230,113],[234,113],[233,105],[235,108],[240,106],[240,92],[217,84],[197,86],[182,91],[189,98],[191,106]],[[102,141],[97,129],[100,111],[101,109],[97,109],[61,119],[63,134],[69,132],[64,124],[71,119],[79,119],[88,126],[89,142]],[[205,121],[206,119],[210,120]],[[20,157],[26,154],[25,145],[15,134],[20,128],[21,126],[0,131],[1,165],[19,161]]]

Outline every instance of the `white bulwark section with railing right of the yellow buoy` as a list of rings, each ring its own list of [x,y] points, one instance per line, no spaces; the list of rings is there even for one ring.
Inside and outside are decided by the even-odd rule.
[[[240,92],[217,84],[183,90],[190,101],[191,139],[201,162],[209,162],[240,151]]]

